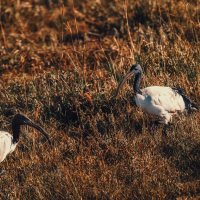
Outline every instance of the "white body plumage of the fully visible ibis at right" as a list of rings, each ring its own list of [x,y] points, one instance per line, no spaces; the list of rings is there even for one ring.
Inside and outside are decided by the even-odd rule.
[[[135,102],[142,110],[157,115],[167,124],[172,115],[185,110],[185,103],[180,94],[170,87],[152,86],[137,93]]]

